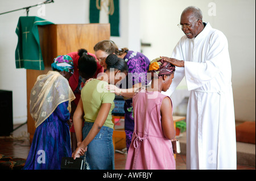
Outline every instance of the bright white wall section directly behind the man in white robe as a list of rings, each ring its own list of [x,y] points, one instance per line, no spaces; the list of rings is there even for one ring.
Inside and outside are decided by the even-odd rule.
[[[151,47],[143,47],[142,51],[151,60],[171,56],[184,35],[177,24],[187,6],[199,7],[203,21],[224,32],[229,41],[236,120],[255,121],[255,1],[141,0],[141,6],[141,38],[151,43]],[[184,80],[177,89],[184,92]]]

